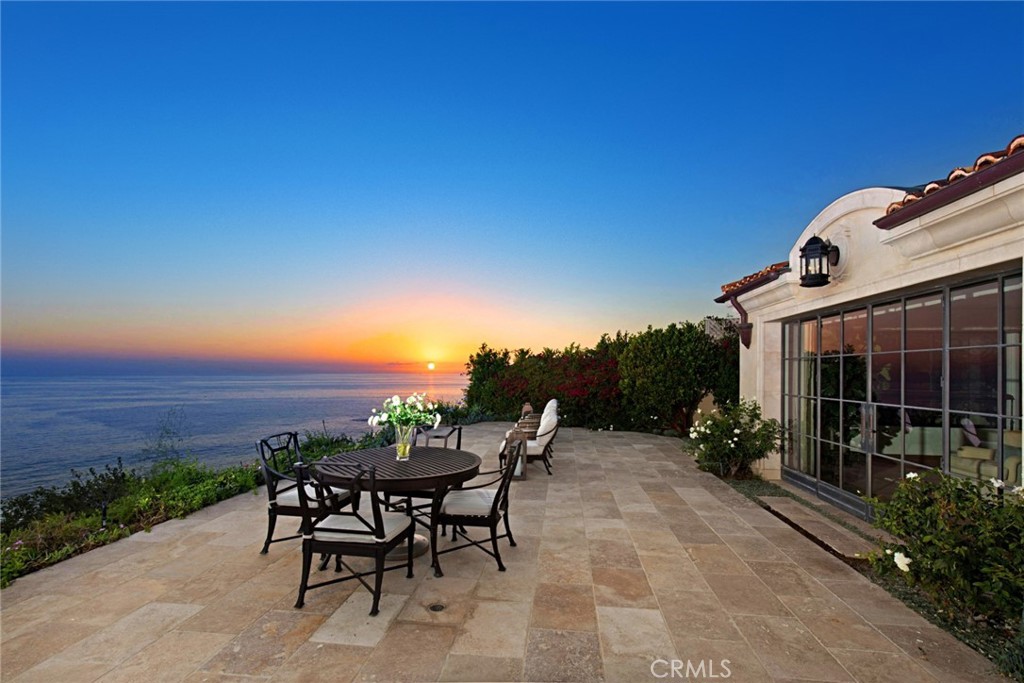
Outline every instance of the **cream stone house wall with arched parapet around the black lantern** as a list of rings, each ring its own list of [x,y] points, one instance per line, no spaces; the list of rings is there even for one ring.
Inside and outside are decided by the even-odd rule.
[[[754,326],[751,346],[740,352],[740,394],[756,398],[766,417],[781,418],[782,321],[988,269],[1021,266],[1024,174],[892,230],[874,226],[886,207],[903,196],[902,190],[871,187],[833,202],[793,244],[791,271],[738,297]],[[839,247],[840,260],[829,285],[802,288],[800,248],[815,234]],[[779,478],[779,454],[762,461],[759,469],[765,478]]]

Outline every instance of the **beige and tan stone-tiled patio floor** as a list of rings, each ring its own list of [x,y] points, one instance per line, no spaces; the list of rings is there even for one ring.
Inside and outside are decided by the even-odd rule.
[[[463,447],[494,465],[507,427]],[[555,446],[554,476],[513,484],[506,572],[466,549],[435,579],[427,554],[386,574],[379,616],[354,582],[294,609],[299,542],[260,555],[265,495],[240,496],[4,590],[2,679],[1006,680],[678,440],[562,429]]]

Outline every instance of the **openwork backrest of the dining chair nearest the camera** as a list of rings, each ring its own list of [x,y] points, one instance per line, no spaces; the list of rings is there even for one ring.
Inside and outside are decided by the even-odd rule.
[[[384,528],[384,516],[381,514],[383,502],[377,489],[377,468],[367,467],[361,463],[332,463],[335,471],[344,468],[352,473],[352,476],[344,481],[333,480],[327,483],[323,480],[315,465],[306,463],[295,464],[295,476],[298,481],[299,508],[302,511],[302,533],[308,536],[313,525],[319,519],[319,511],[327,506],[327,498],[333,494],[347,492],[348,506],[342,510],[332,513],[333,517],[346,517],[355,520],[357,523],[348,523],[344,527],[345,533],[362,535],[383,541],[386,536]],[[316,494],[316,507],[309,500],[308,489],[311,488]],[[343,496],[342,496],[343,498]],[[360,502],[364,503],[362,511],[359,511]],[[367,509],[369,508],[369,510]],[[328,517],[330,521],[331,517]],[[324,530],[331,530],[322,527]]]

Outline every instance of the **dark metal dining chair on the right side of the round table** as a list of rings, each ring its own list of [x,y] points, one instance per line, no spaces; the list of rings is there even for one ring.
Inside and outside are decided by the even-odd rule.
[[[476,546],[486,554],[490,555],[498,562],[498,570],[505,571],[505,564],[502,562],[501,551],[498,549],[498,541],[507,538],[509,545],[515,547],[515,539],[512,537],[512,529],[509,527],[509,486],[512,483],[512,476],[522,458],[522,441],[510,441],[505,447],[505,453],[501,459],[504,463],[499,469],[490,472],[481,472],[481,476],[497,475],[494,479],[476,486],[465,486],[454,488],[445,494],[441,501],[440,508],[437,509],[430,519],[430,559],[431,566],[434,567],[435,577],[443,577],[438,555],[451,553],[456,550]],[[496,487],[490,487],[495,486]],[[498,533],[498,524],[505,524],[505,533]],[[458,543],[462,537],[466,543],[445,548],[437,549],[437,527],[452,525],[452,541]],[[484,547],[482,541],[475,541],[466,533],[467,526],[486,527],[490,531],[490,549]],[[443,538],[443,532],[442,532]]]

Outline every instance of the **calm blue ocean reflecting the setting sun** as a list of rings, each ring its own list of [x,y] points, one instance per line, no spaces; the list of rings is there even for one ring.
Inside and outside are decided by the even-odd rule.
[[[62,484],[71,470],[144,467],[162,428],[213,466],[257,458],[283,431],[358,437],[371,409],[414,391],[457,401],[467,378],[446,374],[5,377],[0,383],[0,496]]]

